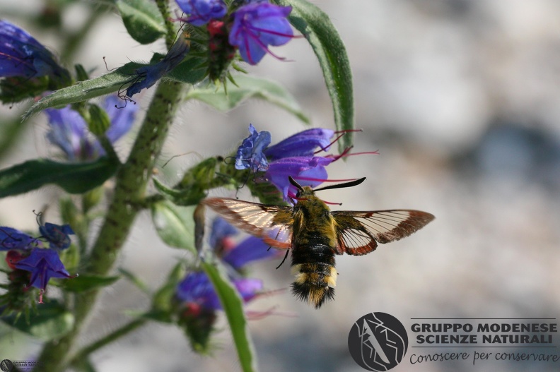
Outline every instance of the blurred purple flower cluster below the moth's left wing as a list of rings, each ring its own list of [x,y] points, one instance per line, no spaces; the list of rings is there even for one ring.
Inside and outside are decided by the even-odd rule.
[[[277,252],[270,250],[262,239],[255,236],[236,244],[233,236],[237,233],[228,222],[218,217],[212,224],[209,243],[216,256],[228,267],[231,281],[247,304],[263,292],[263,286],[261,280],[245,277],[244,268],[257,260],[275,258]],[[179,323],[185,327],[193,349],[206,352],[209,336],[214,330],[216,311],[222,308],[209,277],[204,272],[189,272],[177,285],[175,297],[180,301]]]

